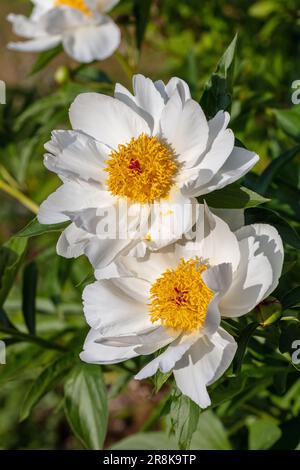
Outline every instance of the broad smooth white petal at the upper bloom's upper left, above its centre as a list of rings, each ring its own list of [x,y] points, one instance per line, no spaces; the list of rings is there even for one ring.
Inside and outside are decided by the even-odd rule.
[[[126,104],[100,93],[79,95],[71,105],[70,120],[73,129],[82,130],[114,149],[150,131],[146,122]]]

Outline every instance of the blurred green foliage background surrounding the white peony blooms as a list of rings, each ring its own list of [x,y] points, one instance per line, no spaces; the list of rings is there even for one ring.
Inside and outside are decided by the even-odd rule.
[[[0,365],[0,448],[299,447],[300,369],[291,363],[292,341],[300,338],[300,105],[292,103],[300,80],[299,2],[121,0],[112,12],[122,28],[120,51],[89,66],[64,54],[50,60],[7,51],[13,35],[5,17],[12,11],[29,12],[30,2],[0,0],[0,79],[7,84],[7,104],[0,105],[0,338],[8,345],[7,364]],[[68,107],[78,93],[112,93],[116,81],[129,86],[138,71],[152,79],[177,75],[200,100],[236,33],[235,67],[230,74],[219,69],[217,91],[225,86],[220,93],[229,96],[238,140],[261,157],[243,184],[270,201],[244,204],[247,221],[274,224],[286,259],[274,299],[226,324],[238,355],[211,387],[212,410],[200,413],[162,374],[154,382],[131,380],[144,358],[102,374],[80,364],[88,263],[55,255],[53,227],[33,237],[40,230],[33,223],[14,235],[58,186],[43,167],[43,146],[53,129],[69,127]],[[230,191],[238,204],[240,193]],[[85,397],[83,417],[79,390],[89,381],[99,395]]]

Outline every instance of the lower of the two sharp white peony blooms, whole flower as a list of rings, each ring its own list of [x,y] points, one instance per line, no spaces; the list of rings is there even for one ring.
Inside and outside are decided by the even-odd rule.
[[[203,206],[201,206],[203,211]],[[270,225],[233,232],[207,207],[196,241],[145,259],[120,257],[84,290],[91,330],[81,359],[113,364],[165,348],[136,376],[173,370],[178,388],[205,408],[207,386],[229,367],[236,342],[221,316],[250,312],[275,289],[282,270],[281,238]]]

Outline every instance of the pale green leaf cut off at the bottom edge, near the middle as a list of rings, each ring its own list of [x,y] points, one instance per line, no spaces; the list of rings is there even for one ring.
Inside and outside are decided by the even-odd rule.
[[[122,439],[111,450],[177,450],[176,441],[164,432],[144,432]]]

